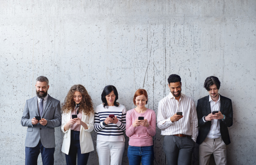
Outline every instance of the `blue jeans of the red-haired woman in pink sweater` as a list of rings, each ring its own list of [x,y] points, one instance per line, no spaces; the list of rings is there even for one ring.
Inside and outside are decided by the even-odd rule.
[[[145,147],[128,147],[129,165],[153,165],[154,161],[154,148],[153,145]]]

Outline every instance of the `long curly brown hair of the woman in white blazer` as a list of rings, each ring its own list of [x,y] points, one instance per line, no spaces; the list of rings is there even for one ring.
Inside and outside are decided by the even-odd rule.
[[[62,112],[64,114],[67,114],[68,112],[74,110],[76,106],[76,103],[73,98],[75,91],[79,91],[82,94],[82,100],[81,100],[81,105],[79,106],[79,110],[83,111],[84,114],[86,114],[87,116],[89,116],[90,113],[94,113],[92,99],[88,94],[88,92],[86,91],[86,89],[84,88],[84,86],[80,84],[73,85],[70,88],[70,91],[68,91],[67,96],[65,98],[64,105],[62,106]]]

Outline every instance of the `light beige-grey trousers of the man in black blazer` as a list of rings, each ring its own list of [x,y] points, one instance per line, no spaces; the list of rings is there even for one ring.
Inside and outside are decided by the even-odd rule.
[[[206,138],[199,146],[199,165],[208,165],[213,154],[216,165],[227,165],[227,147],[221,137],[218,139]]]

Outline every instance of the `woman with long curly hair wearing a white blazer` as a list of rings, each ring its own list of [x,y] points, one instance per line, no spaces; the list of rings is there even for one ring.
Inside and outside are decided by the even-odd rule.
[[[64,138],[61,151],[65,153],[67,165],[86,165],[93,151],[93,103],[83,85],[73,85],[62,107],[61,131]],[[77,115],[72,119],[72,115]]]

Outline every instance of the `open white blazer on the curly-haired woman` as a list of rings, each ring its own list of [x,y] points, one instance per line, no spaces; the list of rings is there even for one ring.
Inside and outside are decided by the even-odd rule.
[[[61,120],[61,131],[65,133],[63,137],[61,151],[67,155],[70,149],[71,129],[69,128],[67,131],[64,131],[64,126],[70,120],[70,116],[71,116],[71,111],[67,114],[62,114],[62,120]],[[83,126],[81,126],[80,128],[81,154],[84,154],[94,150],[93,139],[90,134],[90,132],[93,131],[94,114],[91,113],[90,116],[87,116],[83,112],[81,120],[84,123],[86,123],[88,127],[88,129],[84,129]]]

